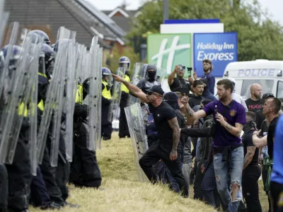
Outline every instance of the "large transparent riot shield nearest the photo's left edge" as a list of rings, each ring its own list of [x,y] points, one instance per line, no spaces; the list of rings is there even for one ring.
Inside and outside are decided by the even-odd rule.
[[[21,35],[21,33],[18,34]],[[8,61],[5,61],[7,64],[4,64],[4,66],[6,66],[4,67],[6,73],[4,73],[4,89],[1,99],[2,103],[4,103],[0,118],[0,129],[2,132],[0,146],[1,164],[11,164],[13,162],[18,135],[23,122],[23,113],[21,113],[19,109],[21,109],[20,106],[24,104],[22,112],[25,111],[31,88],[28,81],[28,63],[30,61],[28,56],[30,53],[31,40],[25,39],[22,47],[16,47],[14,45],[12,49],[9,49],[9,47],[7,49],[8,51],[11,50],[11,55]]]

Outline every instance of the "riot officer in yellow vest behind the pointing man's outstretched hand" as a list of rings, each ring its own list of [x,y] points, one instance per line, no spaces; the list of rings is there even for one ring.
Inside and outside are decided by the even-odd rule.
[[[121,57],[119,59],[119,67],[125,68],[124,79],[127,82],[131,81],[129,76],[130,61],[127,57]],[[121,85],[121,99],[120,99],[120,117],[119,117],[119,137],[120,139],[129,137],[129,127],[127,124],[126,114],[124,108],[127,107],[127,100],[129,98],[129,89],[122,84]]]

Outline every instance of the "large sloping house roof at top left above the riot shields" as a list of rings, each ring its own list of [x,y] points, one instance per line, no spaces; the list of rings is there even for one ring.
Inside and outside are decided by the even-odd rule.
[[[25,28],[44,30],[52,42],[57,40],[57,30],[61,26],[76,31],[76,41],[86,46],[91,44],[93,36],[96,35],[99,37],[98,43],[104,48],[110,48],[110,45],[103,41],[105,37],[125,42],[116,31],[114,33],[114,30],[106,26],[105,21],[96,17],[97,13],[94,16],[86,5],[82,5],[79,1],[9,0],[6,1],[5,9],[10,12],[9,23],[18,21]],[[125,33],[124,30],[123,32]]]

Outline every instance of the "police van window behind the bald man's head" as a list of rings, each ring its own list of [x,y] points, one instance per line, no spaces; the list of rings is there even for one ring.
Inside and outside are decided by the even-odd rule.
[[[258,83],[262,86],[262,94],[272,93],[274,80],[243,80],[241,96],[243,96],[244,99],[250,98],[250,86],[254,83]]]

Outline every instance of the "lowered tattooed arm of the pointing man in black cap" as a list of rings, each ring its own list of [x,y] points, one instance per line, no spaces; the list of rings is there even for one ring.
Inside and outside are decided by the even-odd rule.
[[[178,158],[177,148],[180,141],[180,126],[178,124],[177,117],[168,120],[168,124],[173,130],[173,146],[170,153],[170,160],[176,160]]]

